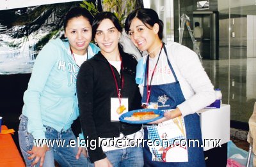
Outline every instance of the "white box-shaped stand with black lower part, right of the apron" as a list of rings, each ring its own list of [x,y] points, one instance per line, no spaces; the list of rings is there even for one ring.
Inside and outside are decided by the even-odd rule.
[[[202,129],[206,166],[227,165],[227,142],[230,141],[230,105],[221,108],[204,108],[198,112]],[[209,140],[218,140],[218,147],[207,145]],[[220,145],[221,147],[220,147]]]

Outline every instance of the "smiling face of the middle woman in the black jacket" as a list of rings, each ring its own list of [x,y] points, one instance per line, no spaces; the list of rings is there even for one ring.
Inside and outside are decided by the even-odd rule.
[[[111,20],[108,18],[102,20],[95,34],[95,42],[98,43],[101,50],[100,52],[103,55],[118,53],[120,35],[120,32],[116,29]]]

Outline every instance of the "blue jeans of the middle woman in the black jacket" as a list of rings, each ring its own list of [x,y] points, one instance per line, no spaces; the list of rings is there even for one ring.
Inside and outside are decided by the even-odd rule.
[[[126,149],[111,150],[105,152],[108,160],[113,164],[113,167],[143,167],[143,150],[140,147],[128,147]],[[88,162],[88,167],[93,167],[94,164]]]

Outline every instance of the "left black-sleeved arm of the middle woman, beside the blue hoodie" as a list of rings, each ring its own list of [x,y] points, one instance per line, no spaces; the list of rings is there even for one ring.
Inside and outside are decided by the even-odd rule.
[[[93,67],[84,62],[77,75],[77,98],[79,118],[91,162],[106,158],[101,147],[93,117]]]

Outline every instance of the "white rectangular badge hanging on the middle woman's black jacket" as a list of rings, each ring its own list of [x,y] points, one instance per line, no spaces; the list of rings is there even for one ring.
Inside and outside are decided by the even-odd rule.
[[[118,98],[111,98],[111,121],[120,121],[119,117],[128,112],[128,98],[122,98],[122,104],[120,105]]]

